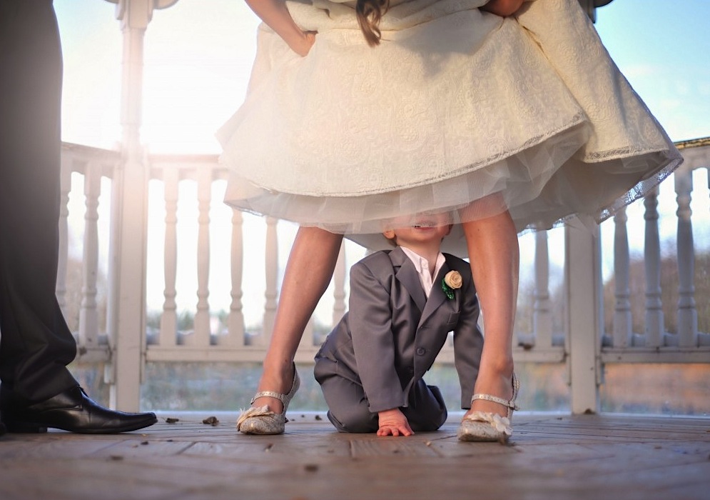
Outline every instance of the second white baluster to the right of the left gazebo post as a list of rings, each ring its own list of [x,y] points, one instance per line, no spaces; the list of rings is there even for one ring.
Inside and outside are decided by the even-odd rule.
[[[197,311],[195,313],[195,344],[210,345],[210,304],[208,296],[210,276],[210,201],[212,198],[212,173],[198,170],[198,246],[197,246]]]

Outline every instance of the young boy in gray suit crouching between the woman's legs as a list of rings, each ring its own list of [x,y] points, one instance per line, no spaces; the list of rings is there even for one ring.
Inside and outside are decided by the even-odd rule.
[[[450,331],[461,407],[470,408],[483,348],[480,309],[470,264],[440,252],[450,231],[445,216],[418,216],[383,233],[395,249],[350,269],[348,313],[315,356],[315,379],[338,431],[410,436],[439,429],[446,407],[422,376]]]

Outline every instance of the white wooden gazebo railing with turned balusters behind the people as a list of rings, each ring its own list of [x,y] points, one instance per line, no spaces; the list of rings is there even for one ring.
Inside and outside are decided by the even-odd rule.
[[[661,243],[659,239],[659,213],[657,209],[657,191],[652,192],[643,201],[644,204],[644,266],[646,277],[645,292],[645,331],[632,331],[632,310],[629,305],[629,224],[641,224],[641,221],[627,220],[627,211],[620,211],[614,217],[614,294],[615,306],[612,331],[603,332],[602,311],[602,271],[600,254],[602,252],[598,231],[579,228],[572,224],[566,229],[565,236],[565,331],[553,331],[553,301],[549,290],[549,251],[547,233],[538,231],[534,234],[534,291],[532,297],[532,333],[517,334],[519,344],[514,356],[517,362],[545,362],[567,364],[572,384],[572,411],[582,412],[596,409],[600,366],[617,362],[661,362],[694,363],[710,361],[710,335],[698,331],[698,318],[694,291],[694,241],[692,232],[691,194],[693,193],[692,174],[710,167],[710,141],[689,141],[679,144],[686,161],[674,174],[677,231],[676,257],[679,276],[678,304],[663,304],[661,288],[668,286],[661,283]],[[60,304],[68,309],[69,294],[66,286],[66,272],[69,245],[68,241],[68,201],[78,189],[71,186],[71,179],[83,177],[83,256],[81,271],[81,304],[79,304],[78,329],[76,337],[80,348],[79,362],[103,361],[109,367],[117,362],[125,364],[123,371],[133,369],[141,374],[146,361],[261,361],[268,345],[270,331],[273,328],[275,309],[278,304],[278,239],[280,237],[275,219],[265,218],[265,305],[263,309],[262,329],[258,332],[245,332],[243,311],[243,270],[245,266],[255,266],[245,261],[245,244],[252,237],[244,234],[243,216],[233,212],[231,218],[231,238],[228,269],[227,263],[210,261],[211,221],[210,209],[213,204],[221,204],[221,199],[212,198],[211,186],[215,181],[225,181],[226,171],[218,164],[216,156],[148,156],[144,159],[146,182],[163,184],[162,200],[150,199],[149,204],[162,204],[165,213],[164,239],[164,290],[163,310],[159,333],[147,335],[146,331],[135,331],[134,339],[129,344],[138,349],[121,351],[118,345],[123,337],[113,332],[120,331],[117,324],[126,318],[121,317],[121,301],[135,297],[113,293],[116,280],[126,276],[143,276],[143,282],[133,283],[133,293],[139,294],[145,303],[146,284],[144,270],[146,261],[121,260],[121,252],[113,247],[121,244],[120,239],[136,239],[145,242],[148,236],[147,216],[126,221],[127,214],[141,211],[118,211],[116,200],[125,199],[118,189],[136,189],[125,183],[111,181],[111,193],[102,192],[101,179],[114,179],[121,169],[121,156],[113,151],[104,151],[85,146],[64,144],[62,149],[62,189],[60,220],[60,266],[57,281],[57,296]],[[71,174],[75,174],[72,176]],[[78,174],[78,175],[77,175]],[[178,247],[177,214],[179,199],[178,185],[181,181],[196,183],[197,199],[191,202],[196,206],[193,223],[198,226],[197,240],[193,242],[197,251],[197,301],[194,314],[194,329],[191,333],[178,331]],[[140,186],[147,192],[147,186]],[[708,196],[707,191],[702,191]],[[111,201],[113,199],[113,202]],[[111,205],[112,239],[99,241],[97,207],[99,204]],[[115,219],[115,220],[114,220]],[[123,221],[123,228],[131,231],[117,231],[115,225]],[[116,236],[116,235],[121,236]],[[604,242],[606,245],[607,242]],[[106,326],[100,324],[97,309],[97,274],[99,247],[111,245],[108,254],[108,279],[106,286]],[[141,253],[141,252],[138,252]],[[142,251],[146,255],[145,249]],[[341,249],[333,278],[334,301],[333,322],[338,321],[346,309],[347,273],[345,249]],[[210,308],[209,276],[219,272],[230,279],[230,306],[226,320],[226,331],[213,331]],[[139,280],[140,281],[140,280]],[[125,288],[125,287],[124,287]],[[678,321],[671,333],[664,326],[664,311],[676,308]],[[116,313],[116,311],[119,311]],[[133,324],[146,324],[146,306],[141,311],[141,321]],[[123,336],[126,333],[122,334]],[[312,362],[318,346],[309,326],[298,350],[297,360]],[[121,359],[116,359],[121,353]],[[439,362],[451,363],[452,348],[447,346],[440,355]],[[115,372],[115,369],[114,371]],[[111,369],[107,370],[111,374]],[[126,381],[121,377],[108,377],[116,391],[126,391],[128,399],[136,399],[137,387],[121,389]],[[139,379],[129,381],[138,384]],[[123,399],[126,406],[126,399]],[[133,406],[138,406],[137,399]]]

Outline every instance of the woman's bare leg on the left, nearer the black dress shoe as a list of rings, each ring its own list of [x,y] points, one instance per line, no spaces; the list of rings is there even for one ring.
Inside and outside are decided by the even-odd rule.
[[[258,391],[288,394],[293,384],[293,357],[303,330],[333,277],[342,234],[316,227],[298,229],[288,256],[274,321],[273,334],[264,359]],[[268,405],[283,411],[281,401],[259,398],[254,406]]]

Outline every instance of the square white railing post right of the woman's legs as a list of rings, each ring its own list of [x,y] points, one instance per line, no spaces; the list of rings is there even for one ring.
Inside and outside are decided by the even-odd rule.
[[[597,413],[603,324],[599,228],[592,233],[579,221],[567,223],[564,251],[572,414]]]

